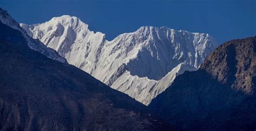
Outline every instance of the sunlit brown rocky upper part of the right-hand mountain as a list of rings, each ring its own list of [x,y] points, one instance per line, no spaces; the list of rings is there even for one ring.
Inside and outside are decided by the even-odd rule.
[[[207,57],[201,69],[222,84],[246,94],[254,94],[255,52],[255,37],[231,40]]]

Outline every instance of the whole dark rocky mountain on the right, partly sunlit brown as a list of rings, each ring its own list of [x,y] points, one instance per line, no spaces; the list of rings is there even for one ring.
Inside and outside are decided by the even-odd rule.
[[[226,42],[149,105],[181,129],[256,129],[256,37]]]

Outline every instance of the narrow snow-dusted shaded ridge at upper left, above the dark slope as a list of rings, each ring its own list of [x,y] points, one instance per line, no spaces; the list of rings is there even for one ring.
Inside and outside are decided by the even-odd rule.
[[[62,63],[66,63],[65,58],[60,57],[59,54],[49,47],[46,47],[43,43],[41,43],[37,39],[32,39],[24,29],[22,29],[21,26],[13,19],[9,13],[3,9],[0,8],[0,22],[10,26],[12,29],[18,30],[22,33],[23,37],[26,39],[26,42],[28,42],[28,45],[30,49],[38,51],[42,54],[44,54],[46,57],[49,57],[51,59],[58,60]]]

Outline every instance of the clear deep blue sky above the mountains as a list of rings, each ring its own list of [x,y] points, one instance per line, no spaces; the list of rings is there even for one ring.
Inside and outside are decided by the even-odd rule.
[[[209,33],[220,43],[256,35],[256,0],[1,0],[19,23],[70,15],[108,40],[140,26]]]

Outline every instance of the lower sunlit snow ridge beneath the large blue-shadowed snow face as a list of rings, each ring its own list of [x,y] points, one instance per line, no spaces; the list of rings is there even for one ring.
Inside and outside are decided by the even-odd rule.
[[[177,75],[185,71],[196,71],[197,68],[185,63],[174,67],[168,74],[160,80],[152,80],[147,77],[139,78],[137,75],[131,75],[125,71],[112,85],[112,88],[120,92],[129,94],[132,98],[149,105],[151,100],[169,87]]]

